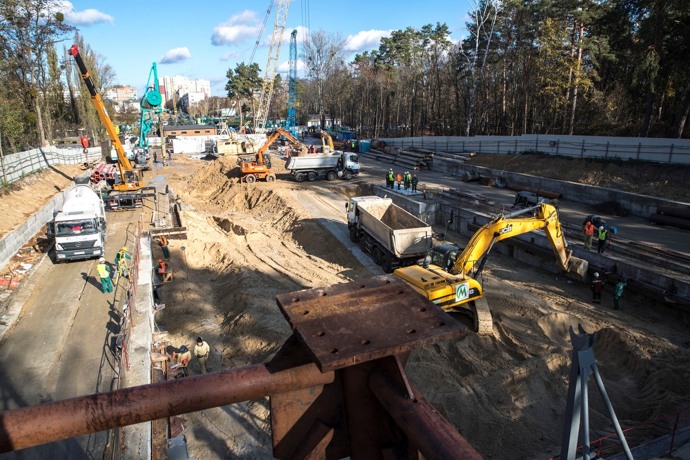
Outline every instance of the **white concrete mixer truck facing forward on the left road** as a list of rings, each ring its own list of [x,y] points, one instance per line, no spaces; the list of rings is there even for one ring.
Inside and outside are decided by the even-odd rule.
[[[103,200],[90,186],[78,185],[65,194],[61,210],[48,223],[55,237],[55,259],[68,261],[101,257],[107,237]]]

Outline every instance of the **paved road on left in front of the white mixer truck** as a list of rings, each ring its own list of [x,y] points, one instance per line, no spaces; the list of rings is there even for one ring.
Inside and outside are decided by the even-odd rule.
[[[135,212],[109,212],[106,259],[133,245]],[[116,388],[112,354],[126,280],[101,292],[97,261],[55,264],[44,257],[8,308],[19,319],[0,344],[0,410]],[[111,266],[111,270],[112,270]],[[103,459],[107,432],[0,455],[0,459]]]

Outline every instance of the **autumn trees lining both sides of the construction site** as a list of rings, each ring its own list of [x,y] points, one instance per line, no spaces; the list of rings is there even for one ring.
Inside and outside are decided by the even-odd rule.
[[[64,43],[76,37],[99,91],[115,70],[63,22],[56,3],[0,3],[5,154],[103,134]],[[361,138],[690,137],[689,1],[480,0],[469,3],[468,17],[464,37],[445,23],[409,27],[354,57],[338,30],[311,32],[299,51],[306,74],[297,85],[298,121],[318,114],[325,125],[328,114]],[[256,105],[261,72],[244,62],[227,70],[227,106],[239,117]],[[275,88],[270,116],[284,118],[287,93]]]

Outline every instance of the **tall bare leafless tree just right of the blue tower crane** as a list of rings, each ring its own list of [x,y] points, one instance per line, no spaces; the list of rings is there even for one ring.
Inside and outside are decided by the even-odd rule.
[[[340,32],[325,32],[319,29],[304,41],[302,60],[306,64],[308,78],[317,86],[317,110],[322,128],[326,128],[326,113],[324,112],[326,81],[338,68],[344,67],[346,57],[345,39]]]

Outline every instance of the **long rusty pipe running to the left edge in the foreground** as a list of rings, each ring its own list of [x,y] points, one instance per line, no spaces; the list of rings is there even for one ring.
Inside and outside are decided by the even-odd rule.
[[[262,363],[0,412],[0,452],[332,383],[314,363]]]

